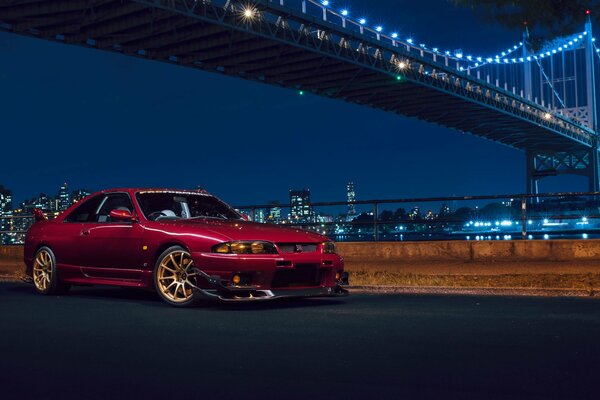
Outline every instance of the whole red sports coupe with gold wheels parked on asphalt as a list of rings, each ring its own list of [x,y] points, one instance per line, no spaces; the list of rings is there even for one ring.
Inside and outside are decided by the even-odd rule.
[[[133,286],[154,288],[176,306],[347,294],[348,275],[329,239],[246,221],[205,191],[112,189],[54,220],[36,210],[24,258],[41,294]]]

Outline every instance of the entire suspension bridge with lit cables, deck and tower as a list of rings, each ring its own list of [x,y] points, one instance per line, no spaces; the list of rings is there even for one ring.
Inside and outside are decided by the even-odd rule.
[[[487,56],[417,43],[326,0],[0,0],[0,30],[416,117],[524,151],[528,194],[558,174],[600,191],[589,16],[541,50],[525,32]]]

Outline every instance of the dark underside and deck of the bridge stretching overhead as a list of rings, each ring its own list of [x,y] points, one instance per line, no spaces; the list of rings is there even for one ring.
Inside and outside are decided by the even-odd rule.
[[[370,50],[357,60],[356,49],[333,42],[326,34],[319,39],[317,31],[315,39],[315,34],[302,27],[299,31],[290,28],[322,23],[301,20],[291,10],[270,10],[275,15],[285,14],[285,23],[265,18],[254,26],[208,2],[197,2],[192,11],[167,3],[185,1],[0,0],[0,28],[301,89],[416,117],[526,151],[576,152],[590,147],[592,136],[585,129],[567,120],[544,121],[542,111],[524,102],[519,107],[514,96],[497,88],[494,99],[494,94],[486,96],[485,87],[480,93],[465,89],[459,83],[462,78],[451,80],[449,75],[436,77],[415,69],[392,73]],[[265,34],[266,30],[273,34]],[[467,79],[473,80],[465,76]],[[499,94],[502,96],[497,97]]]

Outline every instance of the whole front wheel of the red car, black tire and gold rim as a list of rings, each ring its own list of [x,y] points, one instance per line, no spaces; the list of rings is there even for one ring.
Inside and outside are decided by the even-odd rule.
[[[190,253],[181,246],[169,247],[158,256],[154,289],[164,302],[175,307],[188,307],[196,302],[195,290],[190,286],[190,280],[195,281],[195,273],[189,271],[192,264]]]

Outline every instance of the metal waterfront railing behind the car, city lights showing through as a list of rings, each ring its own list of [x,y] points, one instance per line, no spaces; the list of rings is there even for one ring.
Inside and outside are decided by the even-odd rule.
[[[312,202],[302,215],[292,204],[235,208],[256,222],[341,242],[600,238],[600,192]],[[32,215],[0,216],[0,243],[23,244],[33,222]]]

